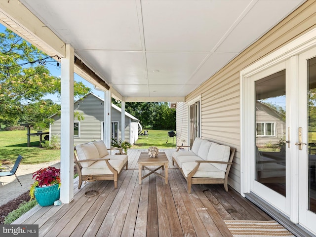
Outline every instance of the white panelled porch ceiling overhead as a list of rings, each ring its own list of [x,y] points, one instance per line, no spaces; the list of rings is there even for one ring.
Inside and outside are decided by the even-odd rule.
[[[126,101],[164,97],[171,102],[187,96],[304,2],[20,1]]]

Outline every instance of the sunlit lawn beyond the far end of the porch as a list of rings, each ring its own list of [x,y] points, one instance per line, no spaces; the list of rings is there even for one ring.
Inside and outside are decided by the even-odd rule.
[[[175,148],[177,143],[177,137],[169,137],[168,131],[170,130],[148,129],[148,136],[138,136],[138,140],[133,145],[132,149],[147,149],[151,146],[155,146],[160,149]]]

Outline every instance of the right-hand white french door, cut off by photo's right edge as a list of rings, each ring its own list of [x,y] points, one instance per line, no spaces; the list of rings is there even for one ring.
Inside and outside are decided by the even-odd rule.
[[[316,233],[316,48],[298,57],[299,223]]]

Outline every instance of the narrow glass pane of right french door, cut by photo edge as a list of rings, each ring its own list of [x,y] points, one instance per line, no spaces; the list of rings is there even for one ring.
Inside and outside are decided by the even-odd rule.
[[[309,209],[316,213],[316,58],[308,60]]]

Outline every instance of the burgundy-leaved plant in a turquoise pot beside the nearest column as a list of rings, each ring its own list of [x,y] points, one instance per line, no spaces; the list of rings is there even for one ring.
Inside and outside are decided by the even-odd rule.
[[[33,173],[35,182],[31,185],[31,200],[35,197],[40,206],[49,206],[60,197],[60,169],[52,166]]]

